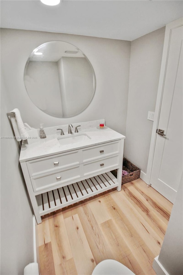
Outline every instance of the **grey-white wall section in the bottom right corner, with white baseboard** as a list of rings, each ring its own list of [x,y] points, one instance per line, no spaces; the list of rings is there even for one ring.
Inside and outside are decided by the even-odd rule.
[[[165,233],[164,241],[158,257],[159,265],[171,275],[183,274],[183,178],[177,190],[175,203]],[[153,263],[156,274],[161,275],[156,261]],[[165,273],[166,274],[166,273]]]

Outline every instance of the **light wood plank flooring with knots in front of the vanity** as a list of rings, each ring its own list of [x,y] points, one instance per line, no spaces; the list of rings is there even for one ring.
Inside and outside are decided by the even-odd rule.
[[[38,225],[41,275],[92,274],[115,259],[136,275],[155,274],[172,203],[141,179],[46,215]],[[127,274],[128,275],[128,274]]]

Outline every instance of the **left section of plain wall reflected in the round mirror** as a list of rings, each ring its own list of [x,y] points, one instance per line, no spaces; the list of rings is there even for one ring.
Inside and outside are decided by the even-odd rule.
[[[45,113],[61,117],[61,97],[57,62],[29,61],[24,75],[30,99]]]

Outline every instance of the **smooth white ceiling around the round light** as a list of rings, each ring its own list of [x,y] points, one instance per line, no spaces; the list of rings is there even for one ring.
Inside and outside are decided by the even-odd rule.
[[[183,16],[177,0],[1,0],[1,28],[132,41]]]

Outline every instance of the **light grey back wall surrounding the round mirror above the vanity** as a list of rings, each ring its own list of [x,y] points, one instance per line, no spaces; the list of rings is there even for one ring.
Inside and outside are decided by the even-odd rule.
[[[96,74],[96,93],[92,103],[75,117],[60,119],[43,113],[31,102],[24,86],[23,72],[27,58],[33,49],[51,40],[69,42],[78,47],[87,56]],[[39,123],[56,126],[104,118],[109,127],[125,135],[129,41],[1,29],[1,53],[7,92],[14,102],[13,107],[19,108],[24,122],[38,128]]]

